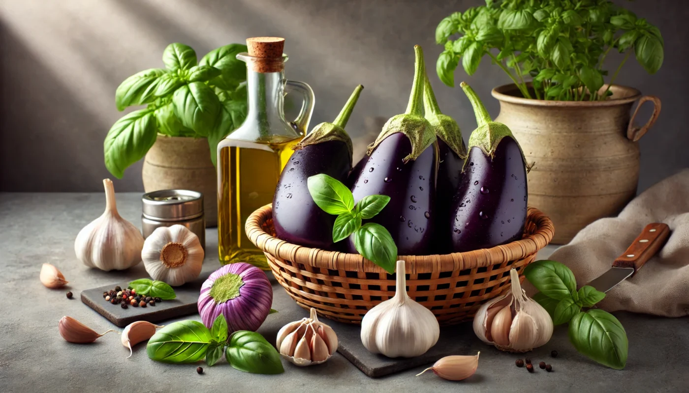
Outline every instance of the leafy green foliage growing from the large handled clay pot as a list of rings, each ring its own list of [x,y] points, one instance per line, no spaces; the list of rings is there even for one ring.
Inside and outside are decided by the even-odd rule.
[[[460,60],[471,75],[488,56],[522,96],[538,100],[604,100],[632,52],[649,74],[664,56],[660,30],[608,0],[486,0],[442,19],[435,41],[445,47],[435,70],[446,85],[454,86]],[[601,92],[611,50],[625,56]]]

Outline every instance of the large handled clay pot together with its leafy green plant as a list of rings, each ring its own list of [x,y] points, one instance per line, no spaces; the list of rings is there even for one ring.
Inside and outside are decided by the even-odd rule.
[[[460,61],[471,75],[484,57],[513,81],[493,89],[495,121],[513,131],[534,164],[528,202],[553,220],[553,243],[634,197],[637,140],[655,122],[660,100],[614,83],[632,53],[649,74],[660,69],[664,42],[655,25],[607,0],[486,0],[442,19],[435,40],[445,47],[436,71],[446,85],[454,85]],[[624,59],[608,75],[604,61],[613,50]],[[637,100],[654,104],[640,128],[637,111],[629,116]]]

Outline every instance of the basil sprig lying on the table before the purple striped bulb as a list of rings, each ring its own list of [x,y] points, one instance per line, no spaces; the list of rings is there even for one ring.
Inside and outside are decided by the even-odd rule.
[[[212,366],[223,357],[232,367],[254,374],[285,372],[278,351],[260,334],[239,330],[229,334],[222,314],[211,329],[198,321],[170,323],[158,330],[146,345],[148,357],[163,363],[194,363],[205,359]]]

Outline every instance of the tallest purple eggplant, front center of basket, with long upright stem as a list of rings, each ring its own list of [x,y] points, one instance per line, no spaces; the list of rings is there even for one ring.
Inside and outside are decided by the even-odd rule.
[[[359,173],[353,173],[354,201],[367,195],[388,195],[390,202],[369,222],[387,229],[400,255],[424,255],[433,242],[435,179],[438,143],[435,131],[422,114],[426,72],[423,52],[415,46],[414,82],[404,114],[393,116],[364,156]],[[356,253],[353,242],[349,252]]]

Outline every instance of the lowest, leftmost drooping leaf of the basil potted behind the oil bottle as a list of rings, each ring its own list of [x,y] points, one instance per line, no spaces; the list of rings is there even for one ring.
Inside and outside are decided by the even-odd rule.
[[[156,119],[149,109],[140,109],[117,120],[103,142],[105,167],[118,179],[125,169],[146,155],[156,142]]]

